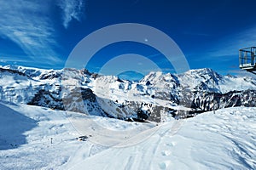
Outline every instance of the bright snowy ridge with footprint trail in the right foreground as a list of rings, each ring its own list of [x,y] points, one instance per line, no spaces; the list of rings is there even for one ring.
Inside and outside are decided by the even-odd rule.
[[[255,111],[232,108],[168,122],[139,144],[119,144],[72,169],[255,169]]]

